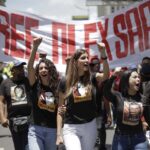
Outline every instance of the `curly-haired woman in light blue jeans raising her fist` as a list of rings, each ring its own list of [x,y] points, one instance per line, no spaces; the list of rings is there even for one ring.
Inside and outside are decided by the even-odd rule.
[[[34,69],[34,60],[42,38],[33,40],[28,63],[32,88],[29,150],[56,150],[57,85],[59,74],[52,61],[42,58]]]

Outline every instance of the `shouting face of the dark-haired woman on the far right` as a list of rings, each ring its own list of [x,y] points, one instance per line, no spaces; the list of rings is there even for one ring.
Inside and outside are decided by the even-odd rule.
[[[129,91],[131,93],[136,93],[140,88],[140,76],[134,71],[129,77]]]

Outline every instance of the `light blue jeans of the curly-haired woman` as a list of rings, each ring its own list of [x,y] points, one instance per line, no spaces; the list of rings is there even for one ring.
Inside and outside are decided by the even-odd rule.
[[[56,150],[56,128],[30,125],[29,150]]]

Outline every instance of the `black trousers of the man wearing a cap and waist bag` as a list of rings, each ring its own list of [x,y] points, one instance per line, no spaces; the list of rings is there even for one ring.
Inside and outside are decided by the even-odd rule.
[[[15,150],[28,150],[28,125],[22,131],[15,131],[12,121],[9,126]]]

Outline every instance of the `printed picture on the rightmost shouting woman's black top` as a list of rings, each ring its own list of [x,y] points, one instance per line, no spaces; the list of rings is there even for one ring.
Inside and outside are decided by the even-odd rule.
[[[124,101],[123,124],[138,125],[143,113],[142,103]]]

